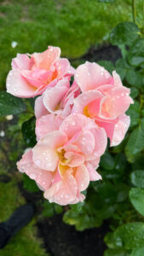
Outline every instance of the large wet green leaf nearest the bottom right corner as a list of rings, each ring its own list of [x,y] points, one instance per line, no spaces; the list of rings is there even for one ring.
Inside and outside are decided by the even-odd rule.
[[[144,246],[144,224],[141,222],[124,224],[114,231],[115,247],[131,250]]]

